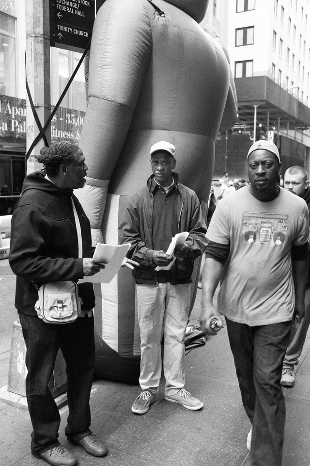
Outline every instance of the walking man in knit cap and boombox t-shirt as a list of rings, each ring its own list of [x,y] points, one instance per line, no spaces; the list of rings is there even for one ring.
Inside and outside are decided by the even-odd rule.
[[[225,316],[255,466],[280,466],[285,403],[280,385],[292,319],[305,313],[309,211],[277,185],[275,144],[248,151],[250,185],[218,203],[202,271],[201,327]],[[213,296],[221,278],[217,308]]]

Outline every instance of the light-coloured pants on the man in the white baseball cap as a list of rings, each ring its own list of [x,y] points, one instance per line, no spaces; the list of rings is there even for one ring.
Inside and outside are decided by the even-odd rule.
[[[185,384],[185,333],[190,283],[137,284],[141,335],[140,387],[158,390],[161,377],[161,340],[164,337],[165,395],[175,395]],[[154,390],[153,390],[154,391]]]

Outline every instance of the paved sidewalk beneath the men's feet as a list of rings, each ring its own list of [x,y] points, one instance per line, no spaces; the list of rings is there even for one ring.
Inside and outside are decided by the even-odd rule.
[[[200,300],[198,290],[190,321],[194,325],[199,325]],[[309,352],[310,334],[295,386],[284,389],[283,466],[310,464]],[[204,402],[202,410],[190,411],[166,401],[162,380],[158,400],[139,416],[131,412],[139,386],[96,380],[91,395],[91,429],[107,443],[108,455],[96,458],[68,444],[64,435],[66,406],[60,410],[59,440],[78,458],[78,466],[249,466],[246,442],[250,423],[242,406],[226,327],[186,355],[186,390]],[[0,466],[44,465],[30,453],[28,411],[0,402],[0,419]]]

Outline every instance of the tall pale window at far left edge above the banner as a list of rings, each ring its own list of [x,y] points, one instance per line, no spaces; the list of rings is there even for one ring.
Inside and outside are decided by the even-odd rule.
[[[16,96],[15,18],[0,13],[0,94]]]

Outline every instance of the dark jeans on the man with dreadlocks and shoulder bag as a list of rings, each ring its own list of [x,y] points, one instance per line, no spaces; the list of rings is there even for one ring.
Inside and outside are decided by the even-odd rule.
[[[47,324],[36,316],[19,314],[26,343],[26,396],[31,417],[31,451],[59,445],[60,415],[48,382],[59,348],[66,362],[69,416],[65,434],[76,440],[91,433],[89,406],[93,383],[95,345],[93,316],[70,324]]]

